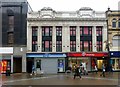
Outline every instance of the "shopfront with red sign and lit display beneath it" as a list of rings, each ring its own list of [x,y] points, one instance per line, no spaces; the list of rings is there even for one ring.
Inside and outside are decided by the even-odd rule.
[[[97,65],[98,69],[102,68],[102,63],[107,65],[108,53],[107,52],[79,52],[68,53],[68,66],[80,65],[82,62],[86,63],[88,71],[94,71],[94,66]]]

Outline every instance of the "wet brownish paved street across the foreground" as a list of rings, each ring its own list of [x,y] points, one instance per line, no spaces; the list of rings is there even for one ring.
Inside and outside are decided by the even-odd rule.
[[[89,73],[82,79],[73,79],[73,74],[35,75],[27,73],[2,75],[2,85],[118,85],[118,72],[106,73],[106,77],[100,76],[101,72]]]

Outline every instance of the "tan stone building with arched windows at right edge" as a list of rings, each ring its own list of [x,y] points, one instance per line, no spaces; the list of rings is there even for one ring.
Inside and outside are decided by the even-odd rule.
[[[106,11],[108,20],[108,44],[111,65],[114,71],[120,71],[120,11]]]

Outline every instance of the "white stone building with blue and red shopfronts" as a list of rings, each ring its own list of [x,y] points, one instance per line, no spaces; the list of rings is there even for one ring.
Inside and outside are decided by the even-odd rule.
[[[33,64],[46,73],[57,73],[82,62],[88,71],[95,64],[101,69],[108,59],[106,41],[105,12],[89,7],[70,12],[45,7],[28,13],[27,72]]]

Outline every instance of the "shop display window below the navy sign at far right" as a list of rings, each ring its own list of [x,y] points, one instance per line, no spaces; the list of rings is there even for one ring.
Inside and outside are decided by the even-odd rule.
[[[113,70],[120,70],[120,58],[111,58]]]

